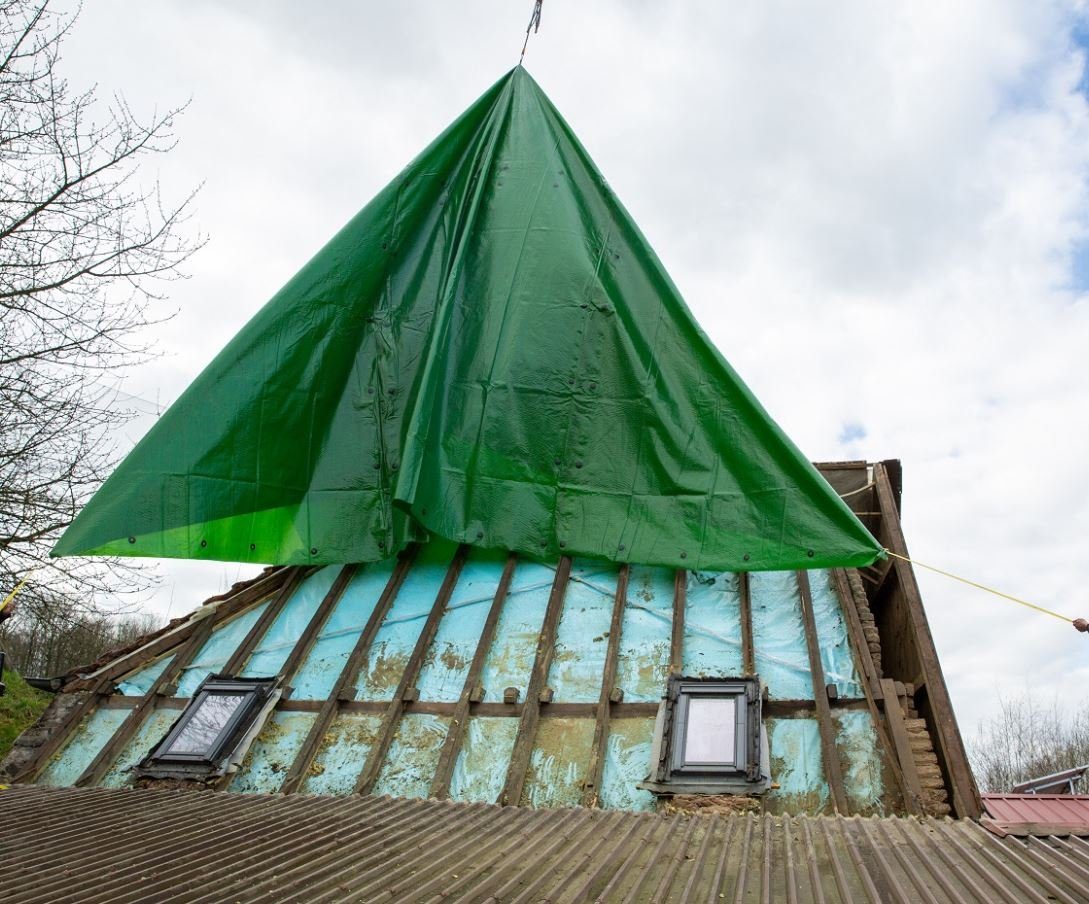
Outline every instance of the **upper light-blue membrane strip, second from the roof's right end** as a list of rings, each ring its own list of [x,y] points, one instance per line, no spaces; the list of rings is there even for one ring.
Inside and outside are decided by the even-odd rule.
[[[773,700],[811,700],[812,675],[794,572],[752,572],[749,599],[756,670],[768,685],[768,696]]]

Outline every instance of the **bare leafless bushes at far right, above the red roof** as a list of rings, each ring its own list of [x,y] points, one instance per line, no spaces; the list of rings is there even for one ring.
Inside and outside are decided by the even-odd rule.
[[[1089,763],[1089,712],[1066,712],[1026,692],[1000,701],[999,714],[982,723],[970,745],[980,789],[1010,791],[1015,784]]]

